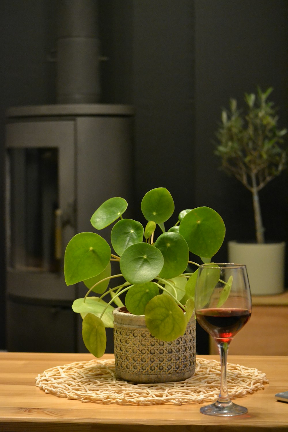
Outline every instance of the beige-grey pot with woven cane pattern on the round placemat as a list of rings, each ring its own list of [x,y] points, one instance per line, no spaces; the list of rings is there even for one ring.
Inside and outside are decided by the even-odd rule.
[[[164,342],[152,336],[144,315],[114,309],[115,370],[136,383],[183,381],[195,372],[196,321],[190,319],[184,336]]]

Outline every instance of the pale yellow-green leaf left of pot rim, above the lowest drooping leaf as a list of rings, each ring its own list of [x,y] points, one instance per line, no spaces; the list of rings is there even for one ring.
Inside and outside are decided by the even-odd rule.
[[[101,313],[104,311],[108,304],[99,297],[87,297],[85,302],[84,299],[76,299],[73,302],[72,309],[78,314],[93,314],[100,318]],[[113,327],[114,317],[113,306],[109,305],[102,316],[102,321],[105,327]]]

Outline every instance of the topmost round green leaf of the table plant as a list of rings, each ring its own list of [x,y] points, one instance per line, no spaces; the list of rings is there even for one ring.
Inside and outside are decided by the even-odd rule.
[[[141,210],[145,219],[160,224],[172,216],[174,201],[165,187],[157,187],[143,197]]]

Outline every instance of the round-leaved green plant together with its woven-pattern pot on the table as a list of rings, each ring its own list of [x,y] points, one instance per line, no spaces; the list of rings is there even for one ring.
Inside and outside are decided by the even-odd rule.
[[[113,197],[91,218],[96,230],[113,224],[113,252],[96,232],[76,234],[66,247],[66,284],[83,281],[88,288],[85,297],[72,306],[83,318],[83,341],[94,356],[101,357],[105,327],[114,327],[115,368],[121,378],[136,382],[186,379],[195,370],[193,298],[199,266],[190,261],[189,252],[210,262],[222,245],[224,222],[215,210],[198,207],[182,211],[165,231],[174,201],[163,187],[152,189],[142,199],[145,227],[123,218],[126,209],[126,200]],[[111,275],[111,261],[119,264],[119,273]],[[189,263],[193,272],[187,270]],[[109,288],[114,278],[121,283]],[[123,293],[125,305],[120,299]]]

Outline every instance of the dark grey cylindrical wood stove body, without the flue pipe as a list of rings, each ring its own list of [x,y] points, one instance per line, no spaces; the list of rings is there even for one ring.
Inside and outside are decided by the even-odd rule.
[[[7,110],[9,351],[85,351],[71,309],[82,289],[66,286],[63,254],[74,234],[93,230],[89,220],[104,200],[131,202],[132,118],[127,105]]]

